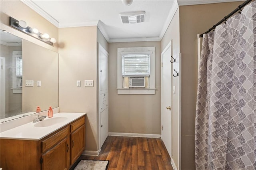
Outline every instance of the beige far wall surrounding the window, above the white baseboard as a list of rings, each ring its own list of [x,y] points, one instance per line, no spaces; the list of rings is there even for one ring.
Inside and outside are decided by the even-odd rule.
[[[109,43],[109,132],[161,134],[160,42]],[[155,48],[155,95],[117,94],[117,48]]]

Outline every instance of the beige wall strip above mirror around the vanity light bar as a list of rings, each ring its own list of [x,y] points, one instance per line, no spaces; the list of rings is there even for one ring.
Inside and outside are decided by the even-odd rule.
[[[34,10],[26,6],[20,0],[0,0],[0,29],[6,30],[15,36],[24,40],[36,43],[48,49],[58,52],[58,28],[51,24],[48,20],[44,19]],[[9,16],[16,20],[24,20],[31,28],[37,28],[41,33],[48,33],[50,37],[57,40],[54,46],[48,45],[34,37],[31,37],[23,32],[20,32],[9,26]]]

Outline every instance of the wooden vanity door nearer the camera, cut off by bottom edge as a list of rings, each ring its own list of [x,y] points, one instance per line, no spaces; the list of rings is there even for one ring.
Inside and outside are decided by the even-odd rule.
[[[54,148],[42,155],[42,170],[68,170],[68,138],[59,142]]]

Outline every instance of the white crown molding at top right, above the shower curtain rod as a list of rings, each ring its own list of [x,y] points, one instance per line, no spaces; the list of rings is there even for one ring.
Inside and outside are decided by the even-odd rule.
[[[244,0],[177,0],[179,6],[239,2]]]

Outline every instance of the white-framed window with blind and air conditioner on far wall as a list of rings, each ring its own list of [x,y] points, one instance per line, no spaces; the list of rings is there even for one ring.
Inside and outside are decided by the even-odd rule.
[[[155,47],[118,48],[118,94],[155,94]]]

